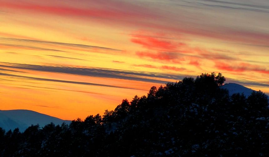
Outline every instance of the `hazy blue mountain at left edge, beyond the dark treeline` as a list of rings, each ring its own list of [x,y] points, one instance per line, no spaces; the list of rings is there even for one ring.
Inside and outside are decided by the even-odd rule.
[[[40,127],[53,122],[61,125],[63,122],[69,124],[71,121],[51,117],[31,110],[0,110],[0,127],[4,130],[19,128],[21,132],[29,126],[39,124]]]

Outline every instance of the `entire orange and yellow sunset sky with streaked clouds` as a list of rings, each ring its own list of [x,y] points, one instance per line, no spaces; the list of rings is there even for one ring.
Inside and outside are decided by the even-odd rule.
[[[0,110],[113,110],[186,76],[269,93],[268,0],[0,0]]]

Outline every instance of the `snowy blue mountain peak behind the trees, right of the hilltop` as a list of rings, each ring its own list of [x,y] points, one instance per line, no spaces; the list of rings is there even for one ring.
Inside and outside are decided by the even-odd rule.
[[[253,90],[251,88],[246,88],[246,87],[244,87],[244,86],[242,86],[240,84],[236,84],[236,83],[226,83],[226,84],[222,85],[220,88],[227,89],[229,91],[230,96],[235,94],[235,93],[244,93],[244,95],[246,97],[248,97],[248,96],[251,95],[251,93],[253,91],[255,91],[255,90]]]

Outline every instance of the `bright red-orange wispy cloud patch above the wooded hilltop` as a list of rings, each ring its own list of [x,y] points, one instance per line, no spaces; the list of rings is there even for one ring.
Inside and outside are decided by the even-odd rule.
[[[136,35],[132,38],[133,43],[142,45],[147,51],[137,51],[136,55],[140,58],[150,58],[164,62],[180,64],[182,61],[190,60],[189,64],[200,67],[195,60],[208,59],[215,60],[240,60],[224,53],[216,53],[199,47],[192,47],[182,42],[172,42],[170,39],[160,40],[158,37]]]

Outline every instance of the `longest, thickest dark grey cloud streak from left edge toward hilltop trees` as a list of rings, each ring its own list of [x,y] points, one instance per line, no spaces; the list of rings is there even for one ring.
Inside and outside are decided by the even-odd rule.
[[[82,76],[93,76],[113,79],[127,79],[135,81],[153,82],[153,83],[166,83],[167,81],[162,79],[181,79],[183,76],[170,75],[161,73],[146,73],[137,71],[126,71],[119,69],[102,69],[102,68],[91,68],[91,67],[71,67],[71,66],[45,66],[45,65],[32,65],[32,64],[15,64],[15,63],[4,63],[0,64],[0,67],[8,67],[14,69],[27,69],[44,72],[74,74]],[[149,77],[149,78],[146,78]],[[160,78],[160,79],[150,79]]]

